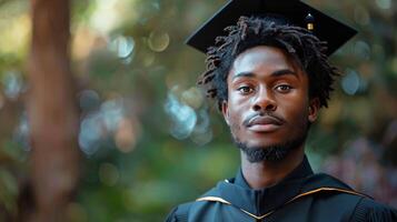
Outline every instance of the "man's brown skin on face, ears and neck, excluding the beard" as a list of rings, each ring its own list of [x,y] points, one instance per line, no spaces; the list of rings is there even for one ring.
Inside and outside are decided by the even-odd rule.
[[[307,74],[278,48],[259,46],[240,53],[227,83],[222,114],[235,140],[248,148],[282,144],[317,119],[319,101],[309,98]],[[242,174],[252,189],[271,186],[299,165],[304,153],[301,144],[280,161],[251,163],[241,152]]]

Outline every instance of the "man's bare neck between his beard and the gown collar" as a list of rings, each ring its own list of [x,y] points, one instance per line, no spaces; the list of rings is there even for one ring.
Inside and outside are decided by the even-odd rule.
[[[292,150],[284,160],[251,163],[241,152],[242,175],[252,189],[264,189],[277,184],[304,160],[304,148]]]

